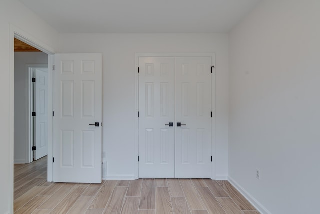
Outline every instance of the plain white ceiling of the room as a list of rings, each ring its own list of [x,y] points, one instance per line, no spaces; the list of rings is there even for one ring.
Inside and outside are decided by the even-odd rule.
[[[262,0],[19,0],[60,33],[226,33]]]

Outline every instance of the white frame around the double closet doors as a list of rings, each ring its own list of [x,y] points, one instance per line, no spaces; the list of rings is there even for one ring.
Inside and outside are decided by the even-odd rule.
[[[211,118],[211,154],[212,154],[212,162],[211,162],[211,179],[215,179],[215,167],[216,167],[216,149],[215,149],[215,53],[135,53],[135,106],[134,112],[136,113],[135,121],[134,121],[134,154],[136,157],[135,163],[135,171],[134,171],[134,178],[139,178],[139,118],[138,118],[138,111],[139,111],[139,74],[138,74],[138,67],[139,67],[139,57],[211,57],[211,64],[213,67],[212,69],[212,76],[211,76],[211,108],[212,108],[212,118]]]

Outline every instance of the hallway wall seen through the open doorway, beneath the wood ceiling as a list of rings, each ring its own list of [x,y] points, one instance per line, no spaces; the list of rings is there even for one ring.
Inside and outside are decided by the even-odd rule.
[[[14,163],[27,163],[26,147],[26,64],[48,64],[43,52],[14,52]]]

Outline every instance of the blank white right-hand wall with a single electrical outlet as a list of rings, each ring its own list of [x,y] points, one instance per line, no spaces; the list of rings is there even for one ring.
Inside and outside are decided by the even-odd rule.
[[[319,212],[319,11],[263,1],[230,33],[229,179],[273,214]]]

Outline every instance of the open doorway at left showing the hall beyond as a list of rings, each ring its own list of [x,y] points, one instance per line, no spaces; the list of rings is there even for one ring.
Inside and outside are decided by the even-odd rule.
[[[14,38],[14,199],[47,181],[47,84],[48,55]]]

